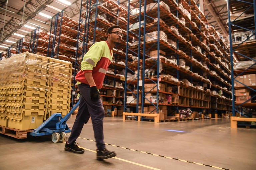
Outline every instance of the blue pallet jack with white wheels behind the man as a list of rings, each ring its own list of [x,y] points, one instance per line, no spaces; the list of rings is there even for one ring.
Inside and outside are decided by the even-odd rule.
[[[76,110],[78,105],[79,105],[79,101],[64,118],[62,118],[60,113],[52,114],[38,128],[30,132],[29,135],[31,136],[52,135],[53,143],[65,141],[67,138],[66,133],[71,132],[66,122],[70,118],[70,116],[73,114],[73,112]]]

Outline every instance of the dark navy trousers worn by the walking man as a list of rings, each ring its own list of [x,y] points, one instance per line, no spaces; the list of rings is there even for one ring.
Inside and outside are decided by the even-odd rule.
[[[81,94],[80,103],[75,123],[71,130],[70,137],[68,138],[68,143],[72,144],[76,141],[84,124],[86,124],[91,117],[96,146],[101,150],[105,148],[103,141],[103,118],[105,117],[105,112],[102,102],[100,99],[95,102],[91,100],[89,85],[83,83],[79,84],[78,89]]]

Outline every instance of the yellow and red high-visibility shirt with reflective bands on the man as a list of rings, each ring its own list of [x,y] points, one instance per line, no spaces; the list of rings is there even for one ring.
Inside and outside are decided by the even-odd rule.
[[[92,77],[98,89],[102,87],[105,74],[113,58],[113,50],[107,41],[100,41],[93,44],[89,51],[84,55],[81,62],[81,70],[77,73],[75,79],[77,84],[89,84],[84,73],[92,72]]]

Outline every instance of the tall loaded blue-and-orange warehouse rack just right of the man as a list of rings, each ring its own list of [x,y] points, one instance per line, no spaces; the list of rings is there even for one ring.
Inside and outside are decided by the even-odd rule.
[[[228,76],[228,73],[231,72],[230,64],[228,64],[229,61],[226,59],[226,57],[229,56],[229,51],[218,36],[218,33],[212,26],[207,24],[206,17],[198,9],[194,1],[176,2],[169,0],[165,3],[160,1],[154,2],[156,3],[145,2],[143,7],[141,7],[141,2],[132,1],[132,3],[130,3],[129,1],[128,5],[129,7],[133,5],[132,8],[128,10],[128,17],[134,17],[133,11],[139,11],[136,16],[138,18],[133,24],[138,21],[138,23],[140,23],[143,20],[142,24],[137,23],[137,37],[140,37],[140,35],[141,37],[136,41],[138,41],[137,44],[141,45],[136,44],[132,46],[127,39],[127,56],[128,52],[132,51],[130,48],[132,48],[134,51],[140,51],[137,53],[138,59],[132,64],[129,62],[126,63],[127,70],[132,70],[133,67],[137,68],[137,70],[142,69],[142,73],[138,71],[136,74],[137,79],[126,81],[125,86],[125,89],[131,91],[127,86],[131,85],[131,82],[133,82],[133,84],[137,83],[138,88],[139,82],[137,80],[139,80],[139,74],[142,74],[141,93],[143,97],[140,112],[147,112],[147,109],[144,110],[144,106],[148,105],[155,107],[151,107],[151,109],[154,109],[150,109],[150,113],[153,113],[154,110],[158,113],[158,109],[160,109],[158,106],[168,106],[167,109],[175,107],[173,110],[176,110],[176,114],[179,113],[179,108],[192,108],[195,111],[201,112],[204,109],[208,109],[209,113],[211,113],[210,108],[212,108],[215,114],[221,114],[223,111],[227,110],[231,111],[231,93],[229,92],[231,79]],[[145,15],[144,9],[146,9]],[[143,31],[140,25],[143,25]],[[133,27],[129,28],[128,25],[127,34],[132,34],[134,32],[130,31],[132,29]],[[152,38],[153,31],[156,31],[155,35],[160,36]],[[151,40],[149,40],[149,38]],[[176,42],[171,40],[176,40]],[[133,43],[136,43],[136,41],[133,41]],[[141,41],[143,42],[140,43]],[[197,48],[195,46],[197,46]],[[155,54],[149,53],[153,50],[157,50],[157,52]],[[165,54],[168,54],[168,56],[164,57]],[[154,55],[155,58],[152,58],[152,55]],[[159,75],[160,65],[162,65],[162,73],[164,73],[162,75]],[[145,71],[147,68],[149,71]],[[186,68],[189,68],[189,70]],[[156,70],[159,70],[159,72]],[[148,72],[152,74],[150,73],[150,76],[147,76]],[[173,75],[175,72],[176,76]],[[203,72],[205,72],[206,75],[204,75]],[[168,74],[174,77],[169,76],[170,78],[168,78]],[[213,81],[213,83],[211,81]],[[155,84],[156,89],[154,85],[148,84],[150,82]],[[197,83],[196,85],[200,88],[196,88],[190,83]],[[152,86],[152,90],[145,90],[144,87],[146,88],[147,85]],[[163,88],[165,85],[167,87],[173,86],[174,88],[169,89],[169,91]],[[213,93],[214,90],[215,93]],[[221,91],[220,94],[216,93],[217,90]],[[154,102],[152,102],[153,95],[150,93],[153,93],[153,91],[155,91],[154,94],[156,94],[156,100]],[[212,93],[210,94],[209,92],[211,91]],[[198,95],[198,93],[201,96]],[[221,93],[223,93],[225,97],[221,97]],[[159,96],[161,96],[161,94],[172,95],[173,100],[168,101],[168,104],[165,103],[166,101],[161,101],[160,103],[159,100],[161,98],[159,98]],[[126,96],[128,96],[127,93]],[[134,93],[134,99],[138,99],[138,96],[137,89],[137,95]],[[151,100],[149,98],[150,96]],[[165,96],[162,95],[162,98],[165,99]],[[140,99],[137,100],[137,112],[140,101]],[[213,107],[210,107],[210,101]],[[127,102],[125,102],[125,104],[126,103]],[[130,105],[131,102],[125,105],[125,109],[128,109],[127,106]],[[166,107],[162,107],[163,110],[166,110],[165,108]],[[135,110],[133,111],[136,112]]]

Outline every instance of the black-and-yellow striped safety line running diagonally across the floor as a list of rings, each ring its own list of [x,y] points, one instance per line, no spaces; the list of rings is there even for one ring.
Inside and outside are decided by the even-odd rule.
[[[67,135],[69,135],[69,134],[67,134]],[[95,140],[86,139],[86,138],[83,138],[83,137],[78,137],[78,138],[81,138],[81,139],[84,139],[84,140],[89,140],[89,141],[92,141],[92,142],[96,142]],[[145,154],[150,154],[150,155],[154,155],[154,156],[164,157],[164,158],[167,158],[167,159],[173,159],[173,160],[177,160],[177,161],[182,161],[182,162],[187,162],[187,163],[193,163],[193,164],[202,165],[202,166],[208,166],[208,167],[212,167],[212,168],[216,168],[216,169],[231,170],[231,169],[227,169],[227,168],[220,168],[220,167],[217,167],[217,166],[206,165],[206,164],[202,164],[202,163],[191,162],[191,161],[186,161],[186,160],[177,159],[177,158],[171,158],[171,157],[168,157],[168,156],[157,155],[157,154],[154,154],[154,153],[148,153],[148,152],[139,151],[139,150],[135,150],[135,149],[130,149],[130,148],[122,147],[122,146],[116,146],[116,145],[112,145],[112,144],[108,144],[108,143],[105,143],[105,144],[106,144],[106,145],[110,145],[110,146],[114,146],[114,147],[119,147],[119,148],[123,148],[123,149],[128,149],[128,150],[136,151],[136,152],[141,152],[141,153],[145,153]]]

